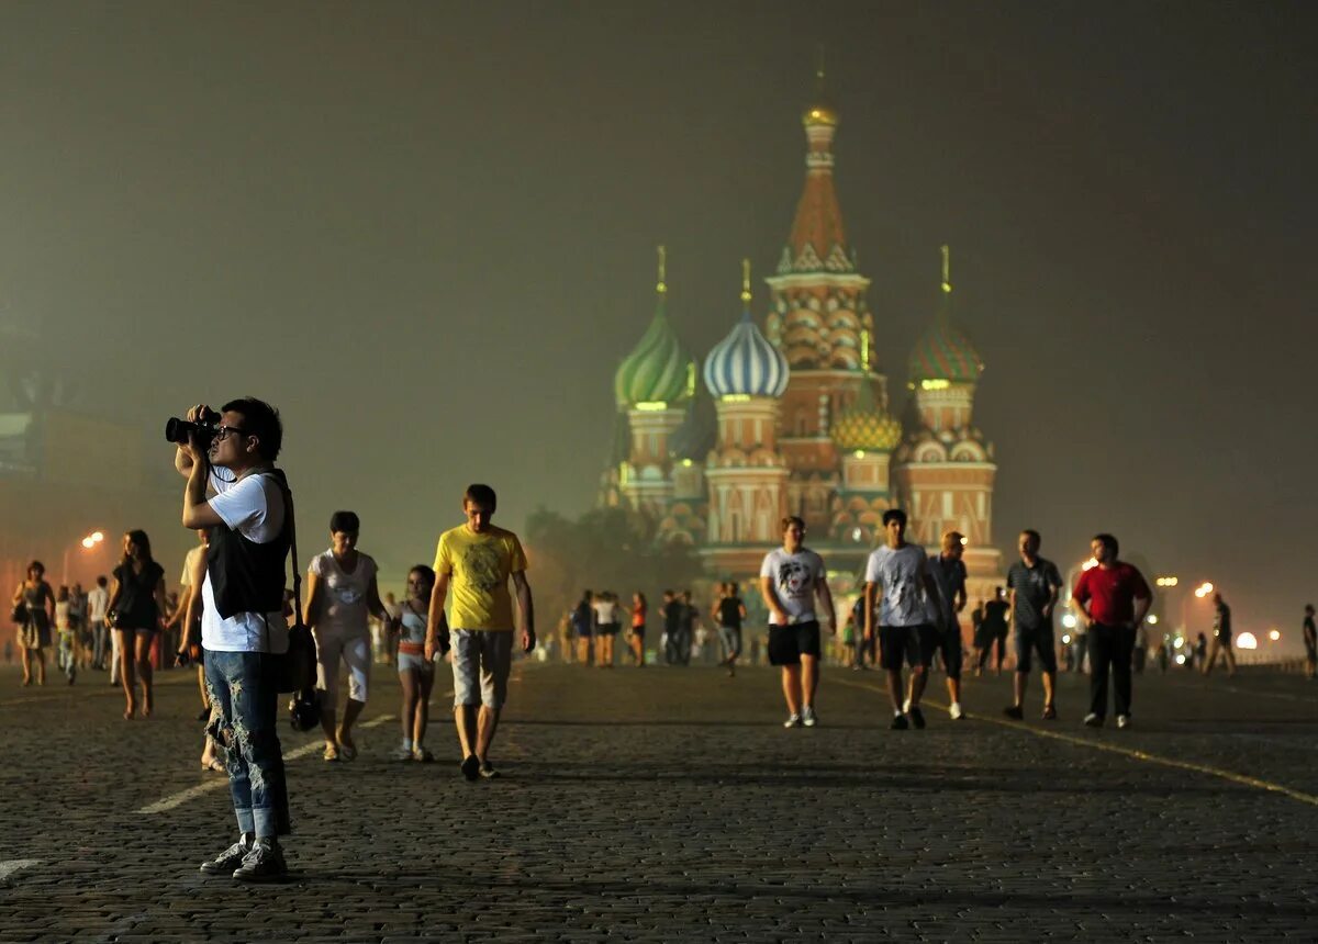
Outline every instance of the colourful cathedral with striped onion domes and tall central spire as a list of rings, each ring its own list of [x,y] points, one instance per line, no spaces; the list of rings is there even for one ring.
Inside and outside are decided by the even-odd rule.
[[[763,325],[743,262],[741,315],[697,363],[668,323],[659,250],[654,319],[614,375],[618,427],[601,500],[643,515],[658,540],[691,545],[710,579],[747,590],[782,541],[783,516],[799,515],[841,596],[883,541],[883,512],[904,508],[907,538],[931,554],[945,531],[965,535],[974,606],[1002,582],[998,466],[973,423],[983,365],[954,324],[949,251],[929,327],[907,358],[911,402],[899,419],[878,366],[870,279],[857,270],[833,184],[838,116],[817,103],[803,116],[805,186],[766,279]]]

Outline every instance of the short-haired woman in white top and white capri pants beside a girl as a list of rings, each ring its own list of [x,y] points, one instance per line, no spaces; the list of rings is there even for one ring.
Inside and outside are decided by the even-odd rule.
[[[352,724],[366,707],[370,685],[368,616],[386,616],[376,583],[376,562],[357,550],[360,531],[361,520],[355,512],[336,511],[330,517],[330,549],[311,558],[307,569],[306,621],[316,640],[316,687],[327,761],[351,761],[357,756]],[[343,721],[335,727],[340,660],[348,666],[348,702]]]

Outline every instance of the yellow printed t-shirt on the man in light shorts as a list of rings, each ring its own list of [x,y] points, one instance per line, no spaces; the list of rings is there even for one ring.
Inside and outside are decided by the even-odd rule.
[[[507,578],[526,570],[526,552],[511,531],[490,525],[476,535],[465,524],[439,536],[435,573],[451,574],[448,594],[455,629],[513,629]]]

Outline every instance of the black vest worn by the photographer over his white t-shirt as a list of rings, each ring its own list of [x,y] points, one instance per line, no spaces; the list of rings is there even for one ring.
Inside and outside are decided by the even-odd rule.
[[[283,561],[293,544],[293,495],[283,471],[272,475],[283,492],[283,527],[269,544],[257,544],[223,524],[211,528],[211,546],[206,552],[206,573],[215,594],[215,611],[220,619],[236,614],[277,614],[283,611]]]

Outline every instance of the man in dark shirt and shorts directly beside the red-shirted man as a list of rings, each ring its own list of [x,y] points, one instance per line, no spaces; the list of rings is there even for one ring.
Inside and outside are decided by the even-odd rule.
[[[1016,624],[1016,671],[1012,681],[1015,695],[1007,718],[1017,721],[1025,716],[1025,687],[1035,653],[1039,654],[1039,674],[1044,682],[1044,720],[1057,720],[1054,693],[1057,689],[1057,646],[1053,645],[1053,611],[1062,590],[1062,575],[1057,565],[1039,556],[1043,538],[1037,531],[1020,532],[1017,548],[1020,560],[1007,571],[1007,590],[1011,617]]]

